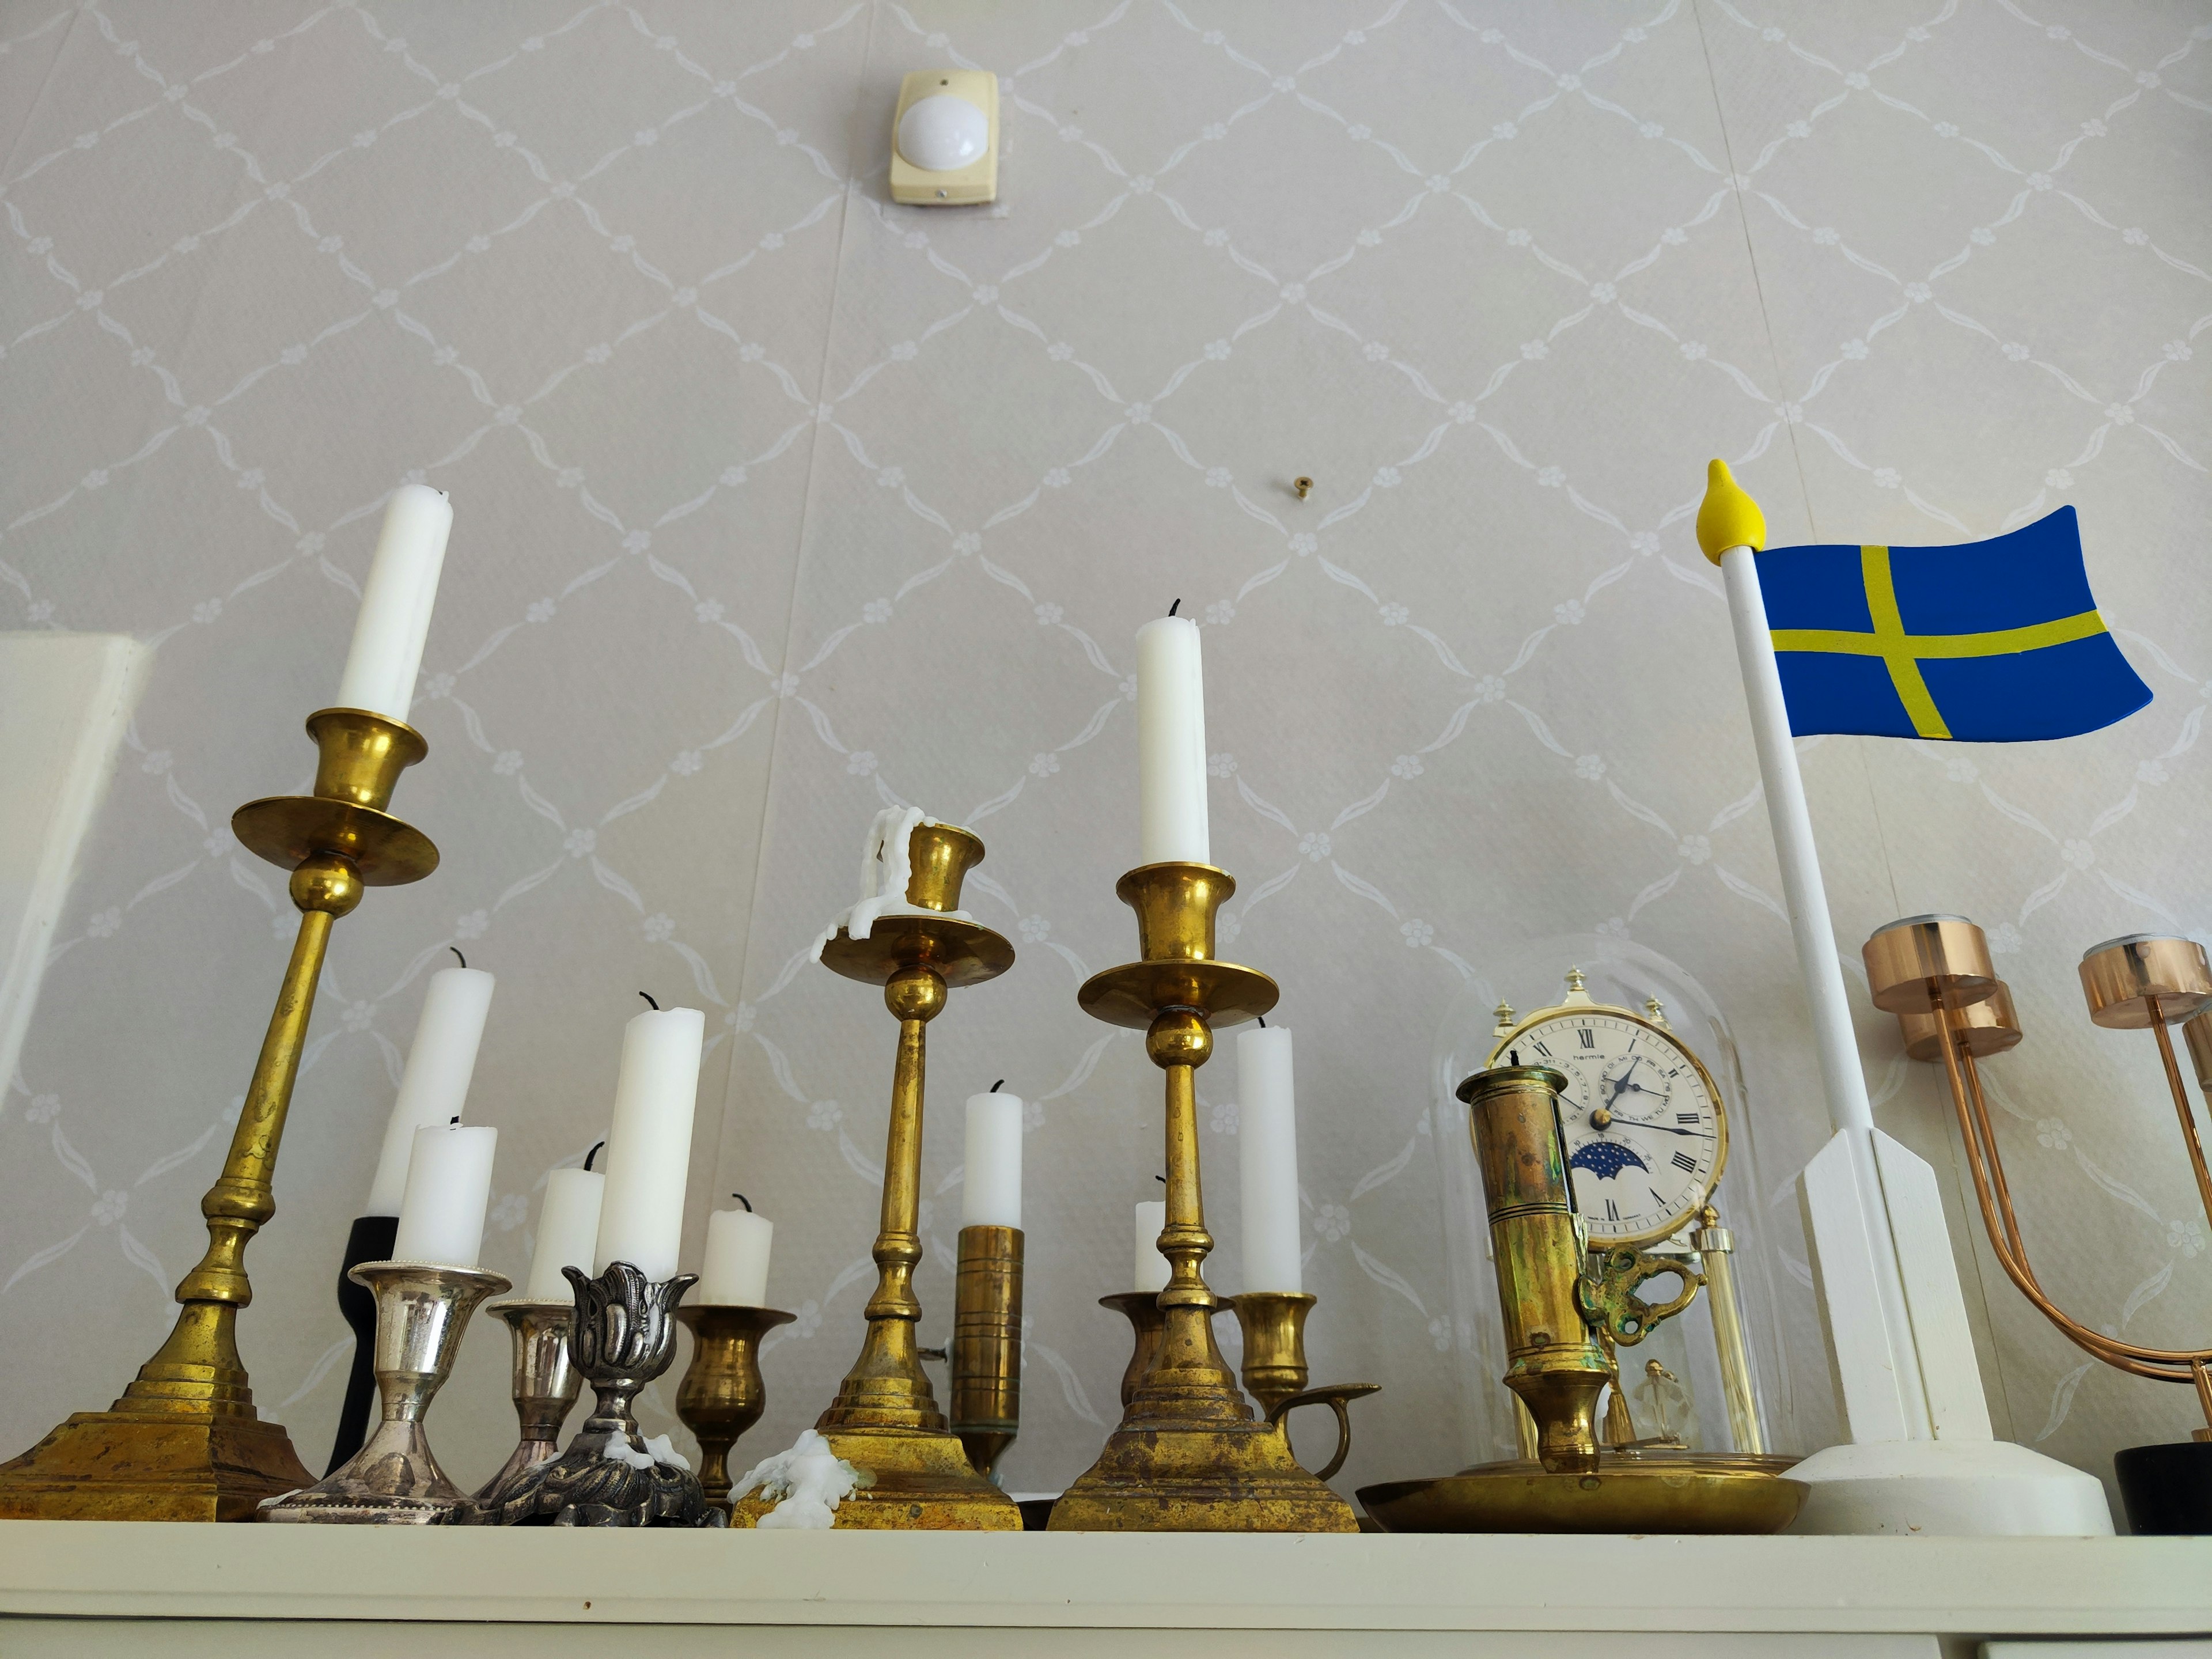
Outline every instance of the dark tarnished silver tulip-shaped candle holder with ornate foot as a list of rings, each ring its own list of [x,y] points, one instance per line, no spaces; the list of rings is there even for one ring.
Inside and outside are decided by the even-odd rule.
[[[469,1526],[726,1526],[699,1475],[657,1462],[630,1400],[677,1352],[675,1305],[699,1274],[646,1279],[611,1261],[597,1279],[562,1267],[575,1285],[568,1358],[597,1402],[568,1449],[487,1486],[456,1520]]]

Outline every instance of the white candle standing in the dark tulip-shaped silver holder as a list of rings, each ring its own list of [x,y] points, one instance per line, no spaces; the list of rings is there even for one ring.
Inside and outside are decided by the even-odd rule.
[[[611,1261],[628,1261],[646,1279],[675,1279],[703,1044],[699,1009],[653,1009],[622,1031],[595,1274]]]

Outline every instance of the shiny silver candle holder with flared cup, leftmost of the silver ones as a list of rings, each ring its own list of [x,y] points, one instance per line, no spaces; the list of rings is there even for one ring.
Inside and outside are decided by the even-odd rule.
[[[383,1418],[343,1469],[263,1504],[257,1520],[438,1526],[469,1500],[438,1467],[422,1418],[453,1374],[469,1316],[513,1281],[420,1261],[365,1261],[352,1276],[376,1296]]]

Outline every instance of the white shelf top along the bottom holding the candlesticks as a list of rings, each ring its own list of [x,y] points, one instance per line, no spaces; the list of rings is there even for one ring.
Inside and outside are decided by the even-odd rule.
[[[1274,1659],[1352,1650],[1936,1655],[1971,1652],[1971,1639],[1991,1635],[2212,1630],[2212,1540],[761,1535],[0,1522],[0,1615],[9,1619],[0,1624],[0,1650],[11,1659],[301,1652],[303,1641],[319,1655],[524,1650],[482,1621],[524,1626],[504,1635],[526,1637],[533,1655],[606,1652],[608,1639],[628,1650],[644,1641],[653,1652],[845,1650],[823,1646],[830,1632],[821,1626],[841,1626],[856,1646],[863,1635],[854,1626],[905,1626],[902,1652],[1055,1659],[1135,1652],[1130,1632],[1139,1628],[1219,1632],[1197,1648]],[[137,1624],[146,1619],[210,1624]],[[303,1630],[299,1621],[325,1624]],[[414,1628],[394,1630],[392,1621]],[[456,1632],[438,1621],[471,1624]],[[648,1637],[637,1628],[644,1624],[752,1630],[719,1630],[695,1648],[703,1632],[670,1628]],[[615,1637],[608,1626],[630,1630]],[[993,1630],[1004,1635],[993,1639]],[[1084,1630],[1119,1635],[1095,1646],[1099,1637],[1086,1639]],[[956,1632],[964,1632],[958,1644],[942,1646]],[[1312,1646],[1261,1632],[1360,1637],[1352,1646],[1343,1637]],[[1438,1646],[1442,1632],[1462,1635]],[[1504,1632],[1553,1635],[1506,1641]],[[447,1637],[465,1646],[447,1648]],[[1624,1637],[1632,1637],[1626,1648]],[[865,1641],[876,1648],[880,1639]],[[1150,1652],[1186,1650],[1194,1648]]]

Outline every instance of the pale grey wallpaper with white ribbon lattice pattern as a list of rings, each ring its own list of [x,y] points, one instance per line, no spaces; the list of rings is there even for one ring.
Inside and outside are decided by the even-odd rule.
[[[2148,710],[2064,745],[1827,739],[1807,781],[1854,973],[1893,916],[1991,929],[2044,1283],[2203,1340],[2157,1060],[2088,1026],[2073,962],[2212,936],[2208,38],[2201,0],[0,7],[0,626],[159,641],[0,1102],[0,1318],[40,1356],[0,1449],[168,1327],[292,933],[226,818],[305,787],[403,478],[456,504],[396,799],[445,867],[336,933],[241,1323],[312,1464],[338,1248],[447,945],[500,975],[471,1113],[507,1272],[606,1124],[637,991],[708,1011],[692,1248],[723,1192],[776,1219],[799,1321],[748,1449],[812,1420],[858,1345],[894,1029],[805,951],[889,801],[982,834],[971,905],[1020,949],[931,1033],[922,1336],[958,1102],[1006,1077],[1006,1473],[1091,1460],[1159,1086],[1073,991],[1133,951],[1133,633],[1170,599],[1206,624],[1223,938],[1298,1033],[1314,1376],[1387,1385],[1338,1484],[1486,1453],[1449,1429],[1473,1360],[1429,1055],[1462,987],[1575,931],[1725,1013],[1778,1438],[1834,1438],[1790,1197],[1825,1115],[1690,535],[1712,453],[1776,540],[2081,509]],[[1002,201],[894,208],[898,77],[947,62],[1002,77]],[[1936,1079],[1887,1015],[1860,1037],[1942,1170],[2000,1431],[2099,1475],[2179,1438],[2179,1389],[2002,1281]],[[1199,1093],[1234,1290],[1232,1066]],[[465,1482],[511,1442],[504,1367],[487,1325],[438,1405]]]

